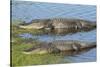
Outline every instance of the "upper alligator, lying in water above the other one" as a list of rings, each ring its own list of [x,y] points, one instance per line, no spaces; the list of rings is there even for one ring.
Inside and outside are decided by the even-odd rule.
[[[74,29],[74,30],[87,30],[96,27],[95,21],[87,21],[82,19],[66,19],[66,18],[53,18],[53,19],[35,19],[29,23],[22,23],[20,28],[26,29]]]

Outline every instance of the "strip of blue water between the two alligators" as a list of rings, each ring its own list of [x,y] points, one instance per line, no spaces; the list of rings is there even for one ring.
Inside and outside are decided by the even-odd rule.
[[[82,40],[82,41],[96,41],[96,30],[92,30],[89,32],[78,32],[75,34],[67,34],[67,35],[53,35],[53,34],[44,34],[44,35],[32,35],[29,33],[20,34],[22,38],[33,38],[38,39],[39,41],[51,42],[54,40]]]

